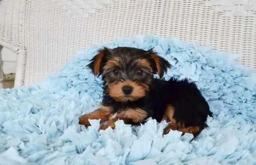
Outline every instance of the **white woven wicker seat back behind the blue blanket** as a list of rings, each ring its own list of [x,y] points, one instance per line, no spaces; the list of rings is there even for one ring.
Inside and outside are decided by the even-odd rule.
[[[157,34],[211,44],[256,68],[256,0],[2,0],[0,44],[19,51],[15,86],[42,81],[81,48]],[[23,51],[23,52],[22,52]]]

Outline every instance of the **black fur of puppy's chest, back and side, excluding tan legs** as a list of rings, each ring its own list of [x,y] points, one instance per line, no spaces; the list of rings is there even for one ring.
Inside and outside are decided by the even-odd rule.
[[[148,117],[161,122],[166,105],[175,107],[174,118],[177,122],[187,126],[207,127],[207,116],[212,117],[209,105],[195,83],[187,79],[160,80],[153,78],[148,93],[145,97],[133,102],[117,102],[108,95],[108,86],[104,87],[102,103],[106,106],[113,106],[114,112],[119,109],[141,108],[148,113]],[[133,123],[138,124],[138,123]]]

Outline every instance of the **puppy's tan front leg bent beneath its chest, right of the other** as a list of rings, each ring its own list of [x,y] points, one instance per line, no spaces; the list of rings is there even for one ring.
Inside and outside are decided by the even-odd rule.
[[[116,127],[115,122],[118,119],[122,119],[125,124],[143,122],[147,119],[147,116],[147,112],[142,109],[128,109],[126,111],[119,112],[116,117],[108,120],[108,122],[105,125],[101,125],[99,129],[107,129],[108,127],[114,129]]]

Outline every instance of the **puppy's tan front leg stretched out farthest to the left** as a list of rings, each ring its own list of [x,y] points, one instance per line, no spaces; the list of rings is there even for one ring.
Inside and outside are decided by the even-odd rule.
[[[100,123],[108,120],[108,118],[111,116],[111,107],[101,106],[101,108],[96,109],[95,111],[92,111],[89,114],[84,114],[79,117],[79,124],[90,126],[89,119],[100,119]]]

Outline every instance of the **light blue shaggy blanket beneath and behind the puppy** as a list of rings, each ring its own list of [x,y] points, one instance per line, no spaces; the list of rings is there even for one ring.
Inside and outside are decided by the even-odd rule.
[[[165,79],[188,77],[214,118],[192,142],[178,131],[163,136],[166,122],[116,122],[98,131],[78,117],[99,107],[101,77],[85,67],[102,46],[154,48],[173,68]],[[43,83],[0,91],[0,165],[256,165],[256,74],[236,55],[177,38],[139,36],[79,51]]]

